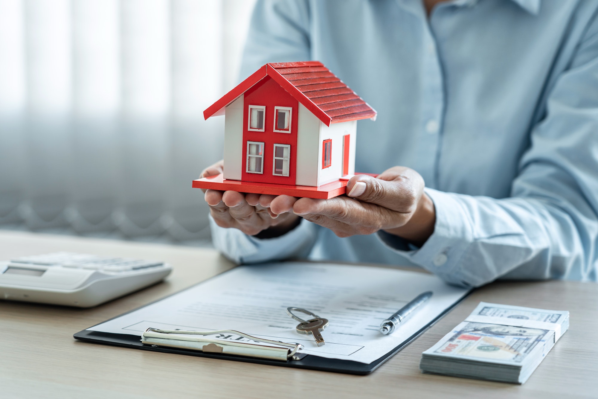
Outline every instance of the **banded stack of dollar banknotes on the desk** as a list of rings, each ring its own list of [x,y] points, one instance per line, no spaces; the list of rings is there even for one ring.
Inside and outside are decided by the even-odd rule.
[[[569,312],[480,304],[423,352],[423,373],[524,383],[569,328]]]

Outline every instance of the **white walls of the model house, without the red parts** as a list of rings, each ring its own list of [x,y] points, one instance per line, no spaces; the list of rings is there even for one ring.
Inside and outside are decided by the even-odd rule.
[[[345,135],[350,135],[349,175],[353,175],[355,173],[357,122],[347,121],[326,126],[301,103],[299,103],[298,111],[295,184],[318,187],[341,178],[343,176],[343,137]],[[322,143],[328,139],[332,140],[331,165],[322,168]],[[245,156],[246,154],[243,154],[243,96],[240,96],[225,109],[225,179],[242,179]],[[291,162],[293,162],[292,159]]]

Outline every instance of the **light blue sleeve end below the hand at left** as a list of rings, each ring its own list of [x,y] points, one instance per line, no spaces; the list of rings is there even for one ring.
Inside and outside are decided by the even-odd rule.
[[[209,220],[214,246],[235,263],[260,263],[307,257],[317,234],[317,226],[303,218],[290,232],[266,239],[248,236],[238,229],[220,227],[211,215]]]

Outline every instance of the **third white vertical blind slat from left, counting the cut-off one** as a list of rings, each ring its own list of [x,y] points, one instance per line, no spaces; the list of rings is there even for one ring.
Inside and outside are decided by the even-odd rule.
[[[120,176],[120,9],[117,0],[75,1],[72,11],[71,202],[75,232],[114,230]]]

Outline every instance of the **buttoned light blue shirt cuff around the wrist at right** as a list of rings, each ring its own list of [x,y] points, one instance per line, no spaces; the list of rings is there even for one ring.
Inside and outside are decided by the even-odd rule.
[[[471,286],[468,275],[460,267],[460,260],[474,240],[472,224],[460,202],[443,191],[425,189],[434,202],[436,223],[434,233],[421,248],[401,237],[380,230],[379,239],[388,248],[408,258],[449,284]]]

